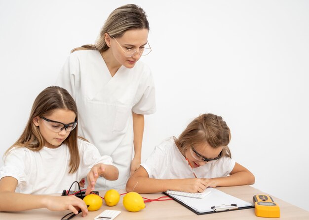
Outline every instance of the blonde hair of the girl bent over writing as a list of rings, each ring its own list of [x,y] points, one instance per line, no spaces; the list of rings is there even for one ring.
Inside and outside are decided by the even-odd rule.
[[[223,147],[222,156],[231,157],[228,144],[231,131],[222,117],[202,114],[195,118],[178,138],[174,138],[179,150],[184,153],[190,146],[209,144],[212,148]]]

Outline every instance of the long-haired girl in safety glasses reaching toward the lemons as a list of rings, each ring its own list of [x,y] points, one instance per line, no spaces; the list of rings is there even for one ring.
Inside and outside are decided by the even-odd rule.
[[[82,216],[87,214],[76,196],[38,195],[62,192],[85,177],[87,194],[99,176],[118,178],[111,157],[101,157],[92,144],[77,138],[77,123],[76,103],[65,89],[48,87],[37,96],[23,133],[0,168],[0,211],[47,208],[77,214],[81,209]]]

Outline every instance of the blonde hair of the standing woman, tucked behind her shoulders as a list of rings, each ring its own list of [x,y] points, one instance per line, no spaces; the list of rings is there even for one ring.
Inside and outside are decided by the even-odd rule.
[[[105,42],[105,33],[113,37],[121,37],[125,31],[133,29],[149,30],[149,22],[143,8],[136,4],[126,4],[116,8],[106,20],[100,31],[100,35],[95,44],[87,44],[74,48],[71,52],[77,50],[99,50],[100,52],[109,49]]]

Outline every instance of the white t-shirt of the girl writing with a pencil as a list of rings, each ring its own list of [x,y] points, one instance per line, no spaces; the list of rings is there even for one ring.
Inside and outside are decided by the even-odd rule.
[[[221,157],[215,162],[193,168],[197,178],[215,178],[228,176],[235,161],[230,157]],[[174,138],[168,138],[154,148],[153,153],[141,164],[150,178],[183,179],[194,178],[191,167],[180,153]]]

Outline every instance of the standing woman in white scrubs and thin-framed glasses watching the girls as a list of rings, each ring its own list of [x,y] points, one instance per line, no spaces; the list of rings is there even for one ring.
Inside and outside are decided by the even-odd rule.
[[[97,42],[74,49],[57,80],[77,103],[79,135],[111,156],[119,170],[117,181],[97,182],[101,189],[124,189],[141,163],[144,114],[155,112],[152,73],[138,62],[151,52],[148,32],[142,8],[116,8]]]

